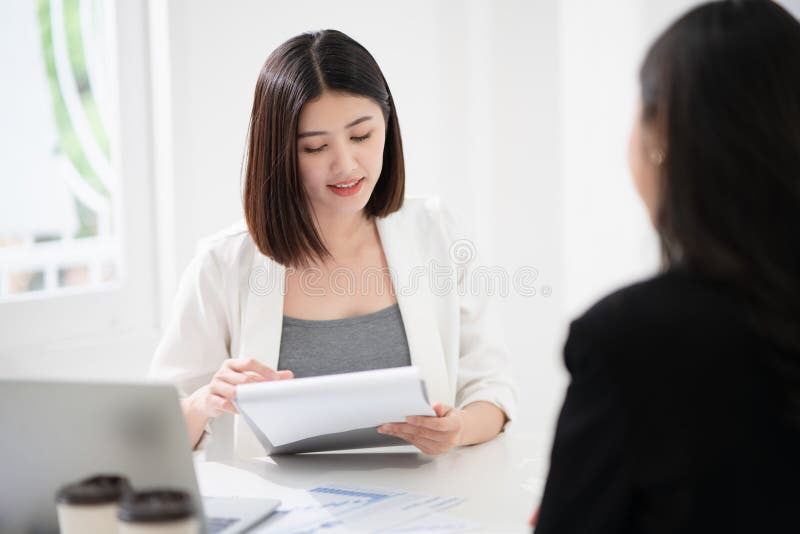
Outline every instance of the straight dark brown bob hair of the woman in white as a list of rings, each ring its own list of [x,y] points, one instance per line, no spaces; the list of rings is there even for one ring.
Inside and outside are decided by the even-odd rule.
[[[405,167],[400,126],[389,86],[370,53],[335,30],[293,37],[267,58],[256,82],[244,175],[244,214],[266,256],[286,266],[330,256],[315,224],[297,164],[303,106],[324,91],[372,99],[383,111],[383,167],[365,212],[383,217],[403,204]]]

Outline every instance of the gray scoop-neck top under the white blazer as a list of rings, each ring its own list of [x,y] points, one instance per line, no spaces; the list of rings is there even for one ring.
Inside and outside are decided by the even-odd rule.
[[[296,378],[411,365],[400,307],[374,313],[309,321],[283,316],[278,369]]]

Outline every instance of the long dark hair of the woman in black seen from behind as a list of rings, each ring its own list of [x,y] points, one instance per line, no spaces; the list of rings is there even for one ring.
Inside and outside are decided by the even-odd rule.
[[[667,265],[735,287],[797,360],[800,23],[768,0],[701,5],[656,40],[640,84],[665,149],[655,219]]]

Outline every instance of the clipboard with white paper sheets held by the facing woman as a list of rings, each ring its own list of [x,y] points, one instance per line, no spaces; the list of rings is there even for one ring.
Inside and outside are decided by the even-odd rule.
[[[376,428],[436,415],[414,366],[243,384],[234,404],[267,454],[402,445]]]

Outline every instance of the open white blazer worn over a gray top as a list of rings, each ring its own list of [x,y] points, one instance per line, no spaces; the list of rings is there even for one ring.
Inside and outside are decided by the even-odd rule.
[[[436,198],[406,198],[377,227],[411,363],[420,368],[428,399],[456,407],[488,401],[513,418],[508,352],[489,297],[474,291],[485,292],[487,284],[470,280],[477,265],[473,242]],[[186,396],[207,384],[226,358],[256,358],[277,368],[284,274],[259,252],[243,222],[204,240],[181,280],[150,378],[172,382]],[[206,431],[210,459],[265,454],[238,416],[223,414]]]

